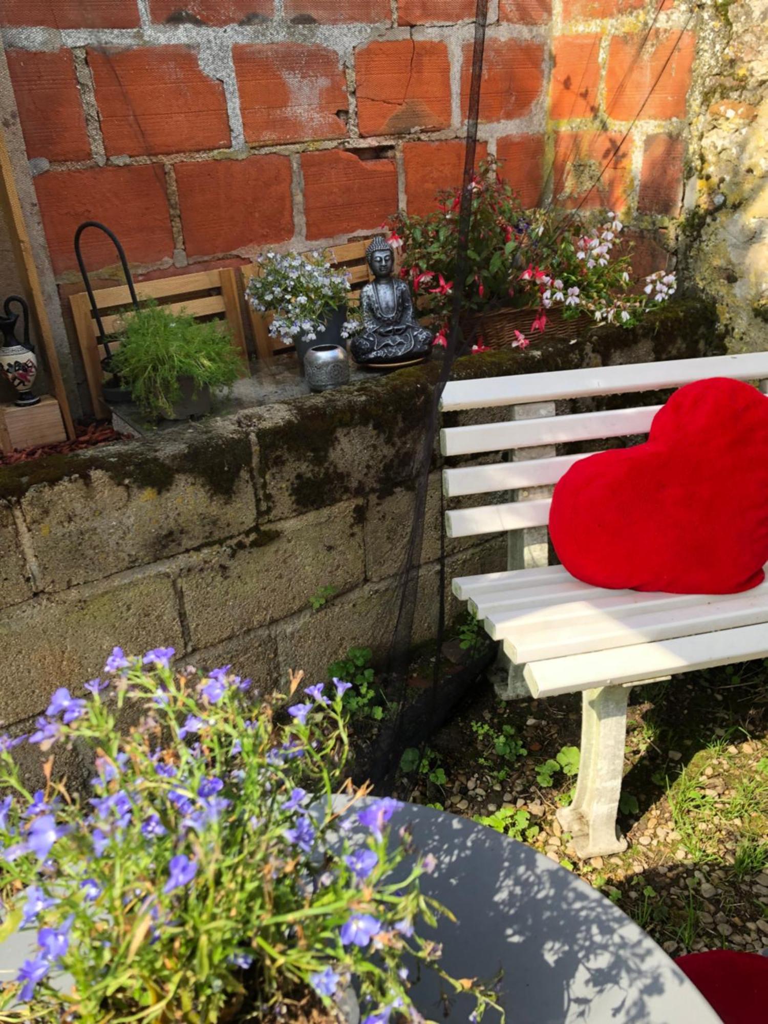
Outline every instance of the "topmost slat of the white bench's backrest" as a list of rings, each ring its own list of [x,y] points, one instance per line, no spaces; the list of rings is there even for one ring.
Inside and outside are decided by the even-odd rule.
[[[447,413],[460,409],[492,409],[596,394],[654,391],[681,387],[708,377],[732,377],[745,381],[768,378],[768,352],[449,381],[440,408]]]

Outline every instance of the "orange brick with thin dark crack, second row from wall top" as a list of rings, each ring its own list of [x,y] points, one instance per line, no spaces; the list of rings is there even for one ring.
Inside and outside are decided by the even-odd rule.
[[[355,68],[360,134],[451,125],[451,62],[444,43],[371,43],[357,51]]]

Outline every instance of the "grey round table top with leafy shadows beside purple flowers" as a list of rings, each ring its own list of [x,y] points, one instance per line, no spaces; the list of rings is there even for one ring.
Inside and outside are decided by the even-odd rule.
[[[453,814],[404,804],[392,824],[409,822],[419,850],[438,860],[422,891],[457,919],[440,920],[441,964],[456,978],[501,969],[508,1024],[721,1024],[667,953],[570,871]],[[440,984],[425,972],[412,991],[433,1020],[443,1016]],[[449,1020],[466,1021],[471,1008],[459,996]],[[483,1024],[495,1019],[488,1011]]]

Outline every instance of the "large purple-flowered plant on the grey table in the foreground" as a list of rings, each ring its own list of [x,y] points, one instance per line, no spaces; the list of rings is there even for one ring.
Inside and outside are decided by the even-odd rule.
[[[494,992],[451,979],[418,933],[446,912],[419,889],[434,858],[404,862],[408,829],[390,842],[396,801],[340,786],[349,684],[294,700],[299,674],[291,696],[260,696],[228,667],[176,674],[173,654],[115,648],[87,698],[59,688],[32,735],[0,744],[0,939],[20,927],[36,945],[2,986],[0,1020],[337,1019],[352,984],[370,1024],[420,1020],[406,956],[471,988],[482,1016]],[[89,792],[53,782],[49,760],[31,794],[12,754],[24,741],[90,748]]]

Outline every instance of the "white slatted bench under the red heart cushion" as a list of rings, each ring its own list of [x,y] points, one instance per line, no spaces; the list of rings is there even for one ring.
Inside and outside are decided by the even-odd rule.
[[[513,461],[460,465],[443,473],[449,501],[513,492],[514,501],[446,513],[449,537],[546,526],[551,485],[580,455],[554,445],[646,434],[660,407],[555,416],[555,401],[680,387],[711,377],[759,381],[768,393],[768,352],[556,373],[452,381],[441,409],[511,407],[508,422],[447,427],[443,456],[509,453]],[[532,458],[531,458],[532,456]],[[451,465],[451,463],[449,463]],[[454,580],[511,663],[508,699],[582,691],[582,756],[575,796],[558,812],[580,857],[621,852],[616,826],[624,774],[627,699],[632,686],[680,673],[768,656],[768,583],[726,596],[603,590],[560,565],[523,568],[510,542],[506,572]],[[508,663],[509,664],[509,663]]]

